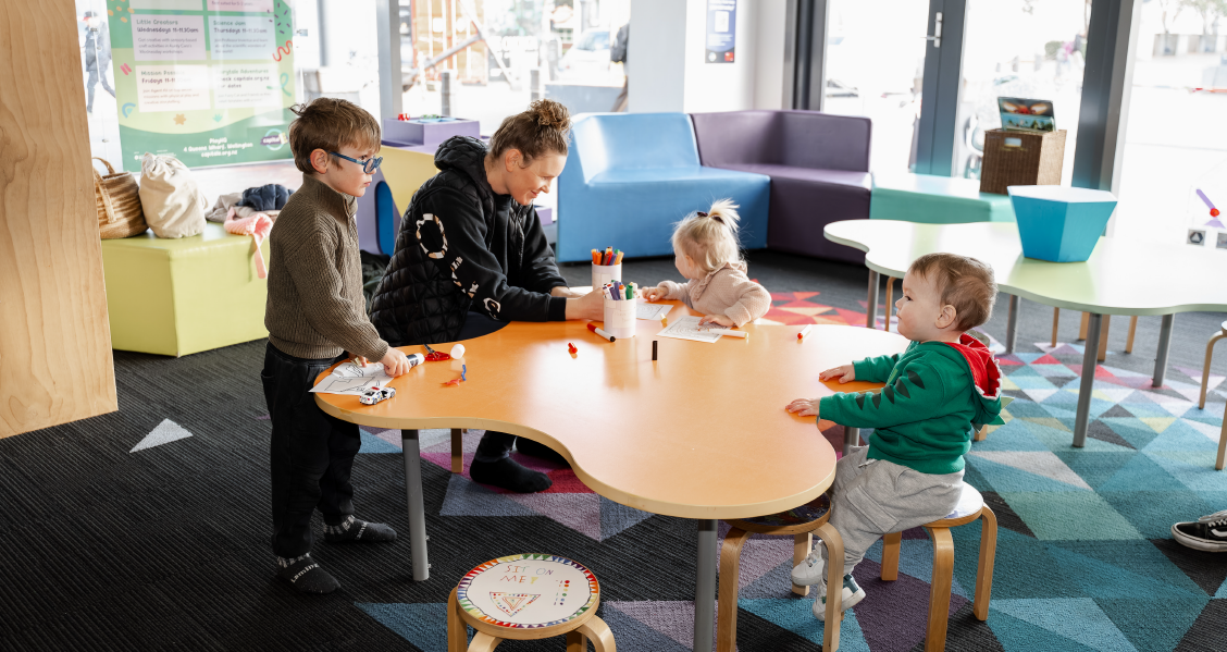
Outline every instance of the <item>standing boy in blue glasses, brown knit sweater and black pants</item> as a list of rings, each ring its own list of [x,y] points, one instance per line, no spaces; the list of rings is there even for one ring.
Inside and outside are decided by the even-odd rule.
[[[315,508],[329,543],[394,541],[396,533],[353,517],[358,426],[324,414],[309,390],[346,351],[378,360],[390,376],[409,371],[409,360],[379,339],[362,296],[355,198],[379,167],[379,123],[328,97],[291,111],[298,119],[290,149],[303,184],[269,236],[269,345],[260,373],[272,420],[272,553],[277,575],[296,589],[330,593],[340,584],[310,557]]]

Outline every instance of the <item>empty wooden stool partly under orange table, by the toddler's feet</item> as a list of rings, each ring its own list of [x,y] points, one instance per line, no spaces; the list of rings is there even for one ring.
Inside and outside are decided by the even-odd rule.
[[[737,584],[741,573],[741,548],[752,533],[793,537],[793,565],[800,564],[814,548],[814,533],[827,545],[827,586],[837,587],[827,597],[827,626],[822,631],[822,650],[839,648],[839,621],[843,610],[843,539],[827,521],[831,518],[831,499],[826,495],[812,501],[769,516],[744,519],[725,519],[733,526],[720,548],[720,593],[717,607],[715,650],[734,652],[737,648]],[[793,593],[806,596],[810,587],[793,584]],[[833,625],[832,625],[833,624]]]

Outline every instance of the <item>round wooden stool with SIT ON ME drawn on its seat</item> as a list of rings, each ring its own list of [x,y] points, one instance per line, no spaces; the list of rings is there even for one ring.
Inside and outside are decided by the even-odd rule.
[[[567,652],[616,652],[596,616],[601,589],[582,564],[555,555],[492,559],[465,573],[448,598],[448,652],[490,652],[503,640],[567,635]],[[477,630],[467,642],[465,625]],[[467,643],[467,646],[465,645]]]

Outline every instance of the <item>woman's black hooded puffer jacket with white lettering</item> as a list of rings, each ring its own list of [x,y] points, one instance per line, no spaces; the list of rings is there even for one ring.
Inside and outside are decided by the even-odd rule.
[[[567,318],[566,286],[533,206],[497,195],[486,180],[486,145],[453,136],[439,173],[413,195],[371,320],[393,346],[453,341],[469,311],[507,322]]]

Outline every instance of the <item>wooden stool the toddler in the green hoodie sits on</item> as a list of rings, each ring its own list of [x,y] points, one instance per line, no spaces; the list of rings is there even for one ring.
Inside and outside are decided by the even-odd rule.
[[[925,627],[925,652],[946,648],[946,625],[950,620],[950,587],[955,578],[955,541],[950,528],[980,519],[980,562],[975,571],[975,602],[972,613],[979,620],[989,618],[989,599],[993,594],[993,560],[996,556],[996,514],[984,497],[972,485],[963,484],[963,495],[955,511],[924,526],[933,539],[933,584],[929,588],[929,625]],[[882,537],[882,580],[899,577],[899,545],[903,533]]]

